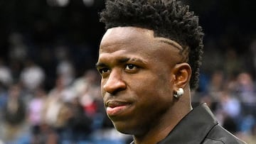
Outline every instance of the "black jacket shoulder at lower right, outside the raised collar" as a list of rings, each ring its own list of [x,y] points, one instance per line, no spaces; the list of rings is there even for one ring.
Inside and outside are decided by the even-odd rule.
[[[232,133],[225,130],[223,127],[214,126],[206,136],[203,144],[245,144],[242,140],[235,137]]]

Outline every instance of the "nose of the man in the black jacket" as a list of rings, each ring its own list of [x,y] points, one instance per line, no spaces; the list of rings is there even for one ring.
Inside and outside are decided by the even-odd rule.
[[[121,72],[118,72],[117,70],[112,70],[110,76],[103,85],[103,89],[105,90],[105,92],[115,94],[119,91],[126,89],[126,84],[122,79],[122,74],[120,73]]]

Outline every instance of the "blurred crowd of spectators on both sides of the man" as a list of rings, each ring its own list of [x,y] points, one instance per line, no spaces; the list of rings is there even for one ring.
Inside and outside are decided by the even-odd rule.
[[[32,54],[40,54],[35,57],[20,33],[9,40],[9,59],[0,60],[0,143],[126,144],[132,140],[114,130],[103,107],[100,75],[95,68],[78,74],[73,49],[58,45],[33,50]],[[208,47],[193,105],[206,102],[220,125],[247,143],[256,143],[256,87],[254,74],[245,68],[247,59],[233,49],[220,54],[209,52]],[[256,50],[253,42],[251,50]],[[85,56],[90,54],[86,52]]]

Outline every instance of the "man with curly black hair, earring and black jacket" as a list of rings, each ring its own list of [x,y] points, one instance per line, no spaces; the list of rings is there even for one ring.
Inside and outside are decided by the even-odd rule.
[[[135,144],[243,143],[203,104],[193,109],[203,32],[175,0],[109,0],[97,70],[107,116]]]

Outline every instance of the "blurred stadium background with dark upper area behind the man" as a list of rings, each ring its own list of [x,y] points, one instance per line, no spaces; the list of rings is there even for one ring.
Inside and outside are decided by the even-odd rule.
[[[256,143],[256,1],[184,1],[206,33],[199,88],[220,124]],[[0,1],[0,143],[126,144],[105,115],[103,0]]]

